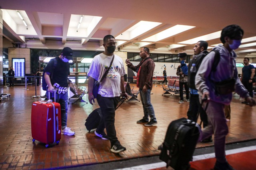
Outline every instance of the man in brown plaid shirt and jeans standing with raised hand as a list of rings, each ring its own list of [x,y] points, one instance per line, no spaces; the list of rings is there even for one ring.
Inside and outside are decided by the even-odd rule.
[[[153,87],[153,74],[155,63],[150,58],[149,49],[143,47],[140,49],[142,61],[134,66],[130,60],[126,59],[128,68],[137,72],[137,87],[140,90],[140,100],[142,102],[144,116],[137,123],[146,123],[144,126],[153,126],[157,124],[154,108],[151,104],[150,93]],[[150,121],[149,118],[150,117]],[[149,121],[149,122],[148,122]]]

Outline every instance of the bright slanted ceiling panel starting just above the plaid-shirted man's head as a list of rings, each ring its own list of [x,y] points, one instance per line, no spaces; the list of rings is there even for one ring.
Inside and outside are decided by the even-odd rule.
[[[161,31],[160,33],[157,33],[157,34],[152,35],[146,39],[143,39],[142,41],[151,41],[151,42],[160,41],[162,39],[172,37],[173,35],[182,33],[184,31],[187,31],[188,29],[192,29],[194,27],[195,26],[190,26],[190,25],[175,25],[175,26],[170,27],[164,31]]]

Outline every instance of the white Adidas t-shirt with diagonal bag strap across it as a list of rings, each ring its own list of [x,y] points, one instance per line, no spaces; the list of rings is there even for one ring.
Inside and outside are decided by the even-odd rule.
[[[113,56],[107,56],[103,53],[96,55],[92,60],[90,69],[88,71],[88,76],[98,80],[102,78],[103,74],[108,69]],[[120,82],[121,76],[124,76],[124,63],[122,59],[115,55],[114,61],[107,76],[100,82],[99,92],[102,97],[118,97],[120,96]]]

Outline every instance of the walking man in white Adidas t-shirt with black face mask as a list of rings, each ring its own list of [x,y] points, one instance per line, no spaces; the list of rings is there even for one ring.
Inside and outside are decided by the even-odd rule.
[[[116,39],[112,35],[106,35],[103,39],[103,46],[105,51],[99,55],[96,55],[92,60],[90,69],[88,72],[88,99],[90,104],[95,103],[92,89],[94,80],[100,82],[100,79],[108,70],[112,58],[114,57],[113,63],[106,74],[106,77],[100,82],[97,102],[101,108],[101,122],[99,127],[94,132],[95,135],[102,139],[109,139],[111,143],[111,152],[119,153],[126,150],[116,137],[115,129],[115,108],[118,105],[120,96],[127,98],[127,94],[124,88],[124,63],[122,59],[114,55],[116,49]],[[104,124],[103,124],[104,122]],[[104,132],[106,127],[106,133]]]

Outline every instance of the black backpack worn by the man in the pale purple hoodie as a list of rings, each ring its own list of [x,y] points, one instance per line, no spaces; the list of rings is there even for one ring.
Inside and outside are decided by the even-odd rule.
[[[220,62],[220,52],[216,49],[213,49],[212,51],[215,52],[214,62],[212,64],[212,71],[215,72],[218,63]],[[210,51],[210,52],[212,52],[212,51]],[[206,55],[208,55],[209,53],[207,51],[204,51],[202,54],[199,54],[196,59],[192,60],[192,62],[190,63],[191,64],[190,66],[192,66],[192,64],[196,64],[196,72],[197,72],[201,63],[202,63],[202,61],[203,61],[203,59],[204,59],[204,57]],[[189,72],[190,72],[190,68],[188,68]],[[190,74],[188,76],[188,85],[192,89],[196,89],[196,85],[195,85],[196,72],[190,72]]]

